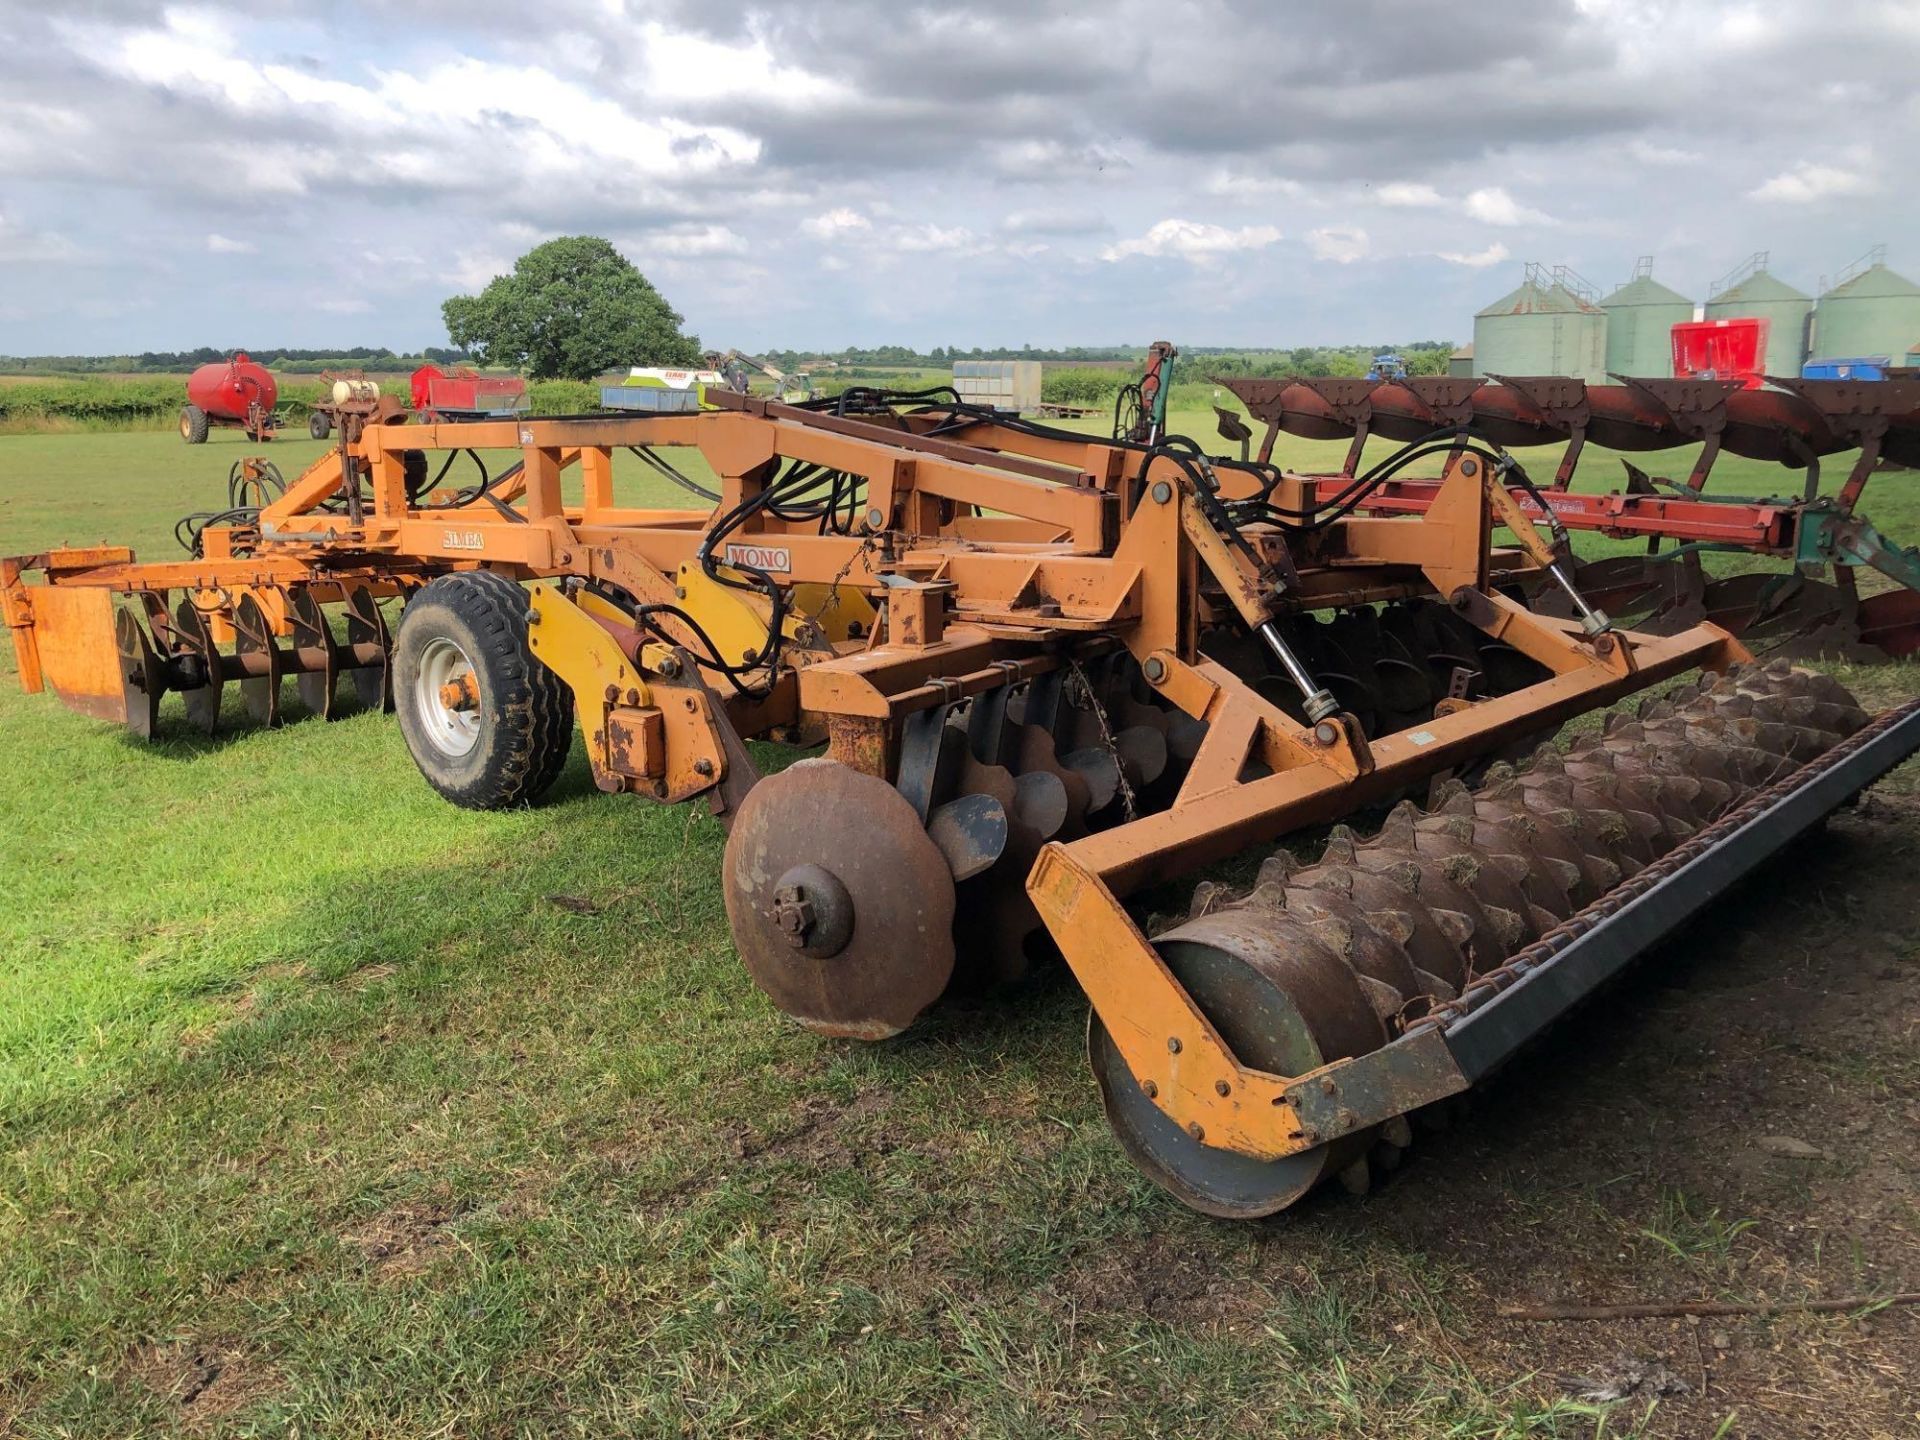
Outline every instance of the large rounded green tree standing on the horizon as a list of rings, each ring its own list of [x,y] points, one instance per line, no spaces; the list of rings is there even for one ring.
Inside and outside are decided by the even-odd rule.
[[[701,342],[680,313],[595,234],[566,234],[528,250],[513,275],[440,313],[455,346],[536,380],[591,380],[628,365],[699,365]]]

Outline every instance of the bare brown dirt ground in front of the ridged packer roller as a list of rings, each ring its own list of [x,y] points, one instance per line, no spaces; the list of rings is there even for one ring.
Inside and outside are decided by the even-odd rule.
[[[1503,1306],[1920,1288],[1920,804],[1797,845],[1425,1137],[1361,1238],[1457,1273],[1482,1379],[1678,1377],[1649,1436],[1920,1432],[1920,1315],[1532,1323]],[[1332,1240],[1309,1202],[1292,1235]],[[1605,1384],[1592,1386],[1607,1388]],[[1638,1415],[1628,1386],[1619,1415]],[[1576,1390],[1584,1392],[1584,1390]]]

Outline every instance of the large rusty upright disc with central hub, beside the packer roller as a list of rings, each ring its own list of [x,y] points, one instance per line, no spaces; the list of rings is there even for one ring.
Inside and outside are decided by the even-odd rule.
[[[822,1035],[899,1035],[954,968],[954,881],[885,780],[801,760],[751,791],[726,843],[726,914],[755,983]]]

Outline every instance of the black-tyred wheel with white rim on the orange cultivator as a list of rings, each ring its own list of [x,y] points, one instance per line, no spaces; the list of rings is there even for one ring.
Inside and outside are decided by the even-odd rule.
[[[574,695],[526,643],[526,589],[442,576],[394,639],[394,710],[426,783],[468,810],[532,804],[574,743]]]

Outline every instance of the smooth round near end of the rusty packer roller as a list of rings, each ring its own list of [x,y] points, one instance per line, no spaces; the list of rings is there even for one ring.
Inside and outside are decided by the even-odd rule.
[[[1354,973],[1319,947],[1296,947],[1294,929],[1248,916],[1204,916],[1154,947],[1242,1066],[1304,1075],[1331,1060],[1377,1048],[1384,1035]],[[1106,1119],[1127,1158],[1185,1204],[1208,1215],[1252,1219],[1284,1210],[1365,1154],[1367,1135],[1281,1160],[1256,1160],[1192,1139],[1140,1089],[1098,1016],[1087,1021],[1087,1058]]]

